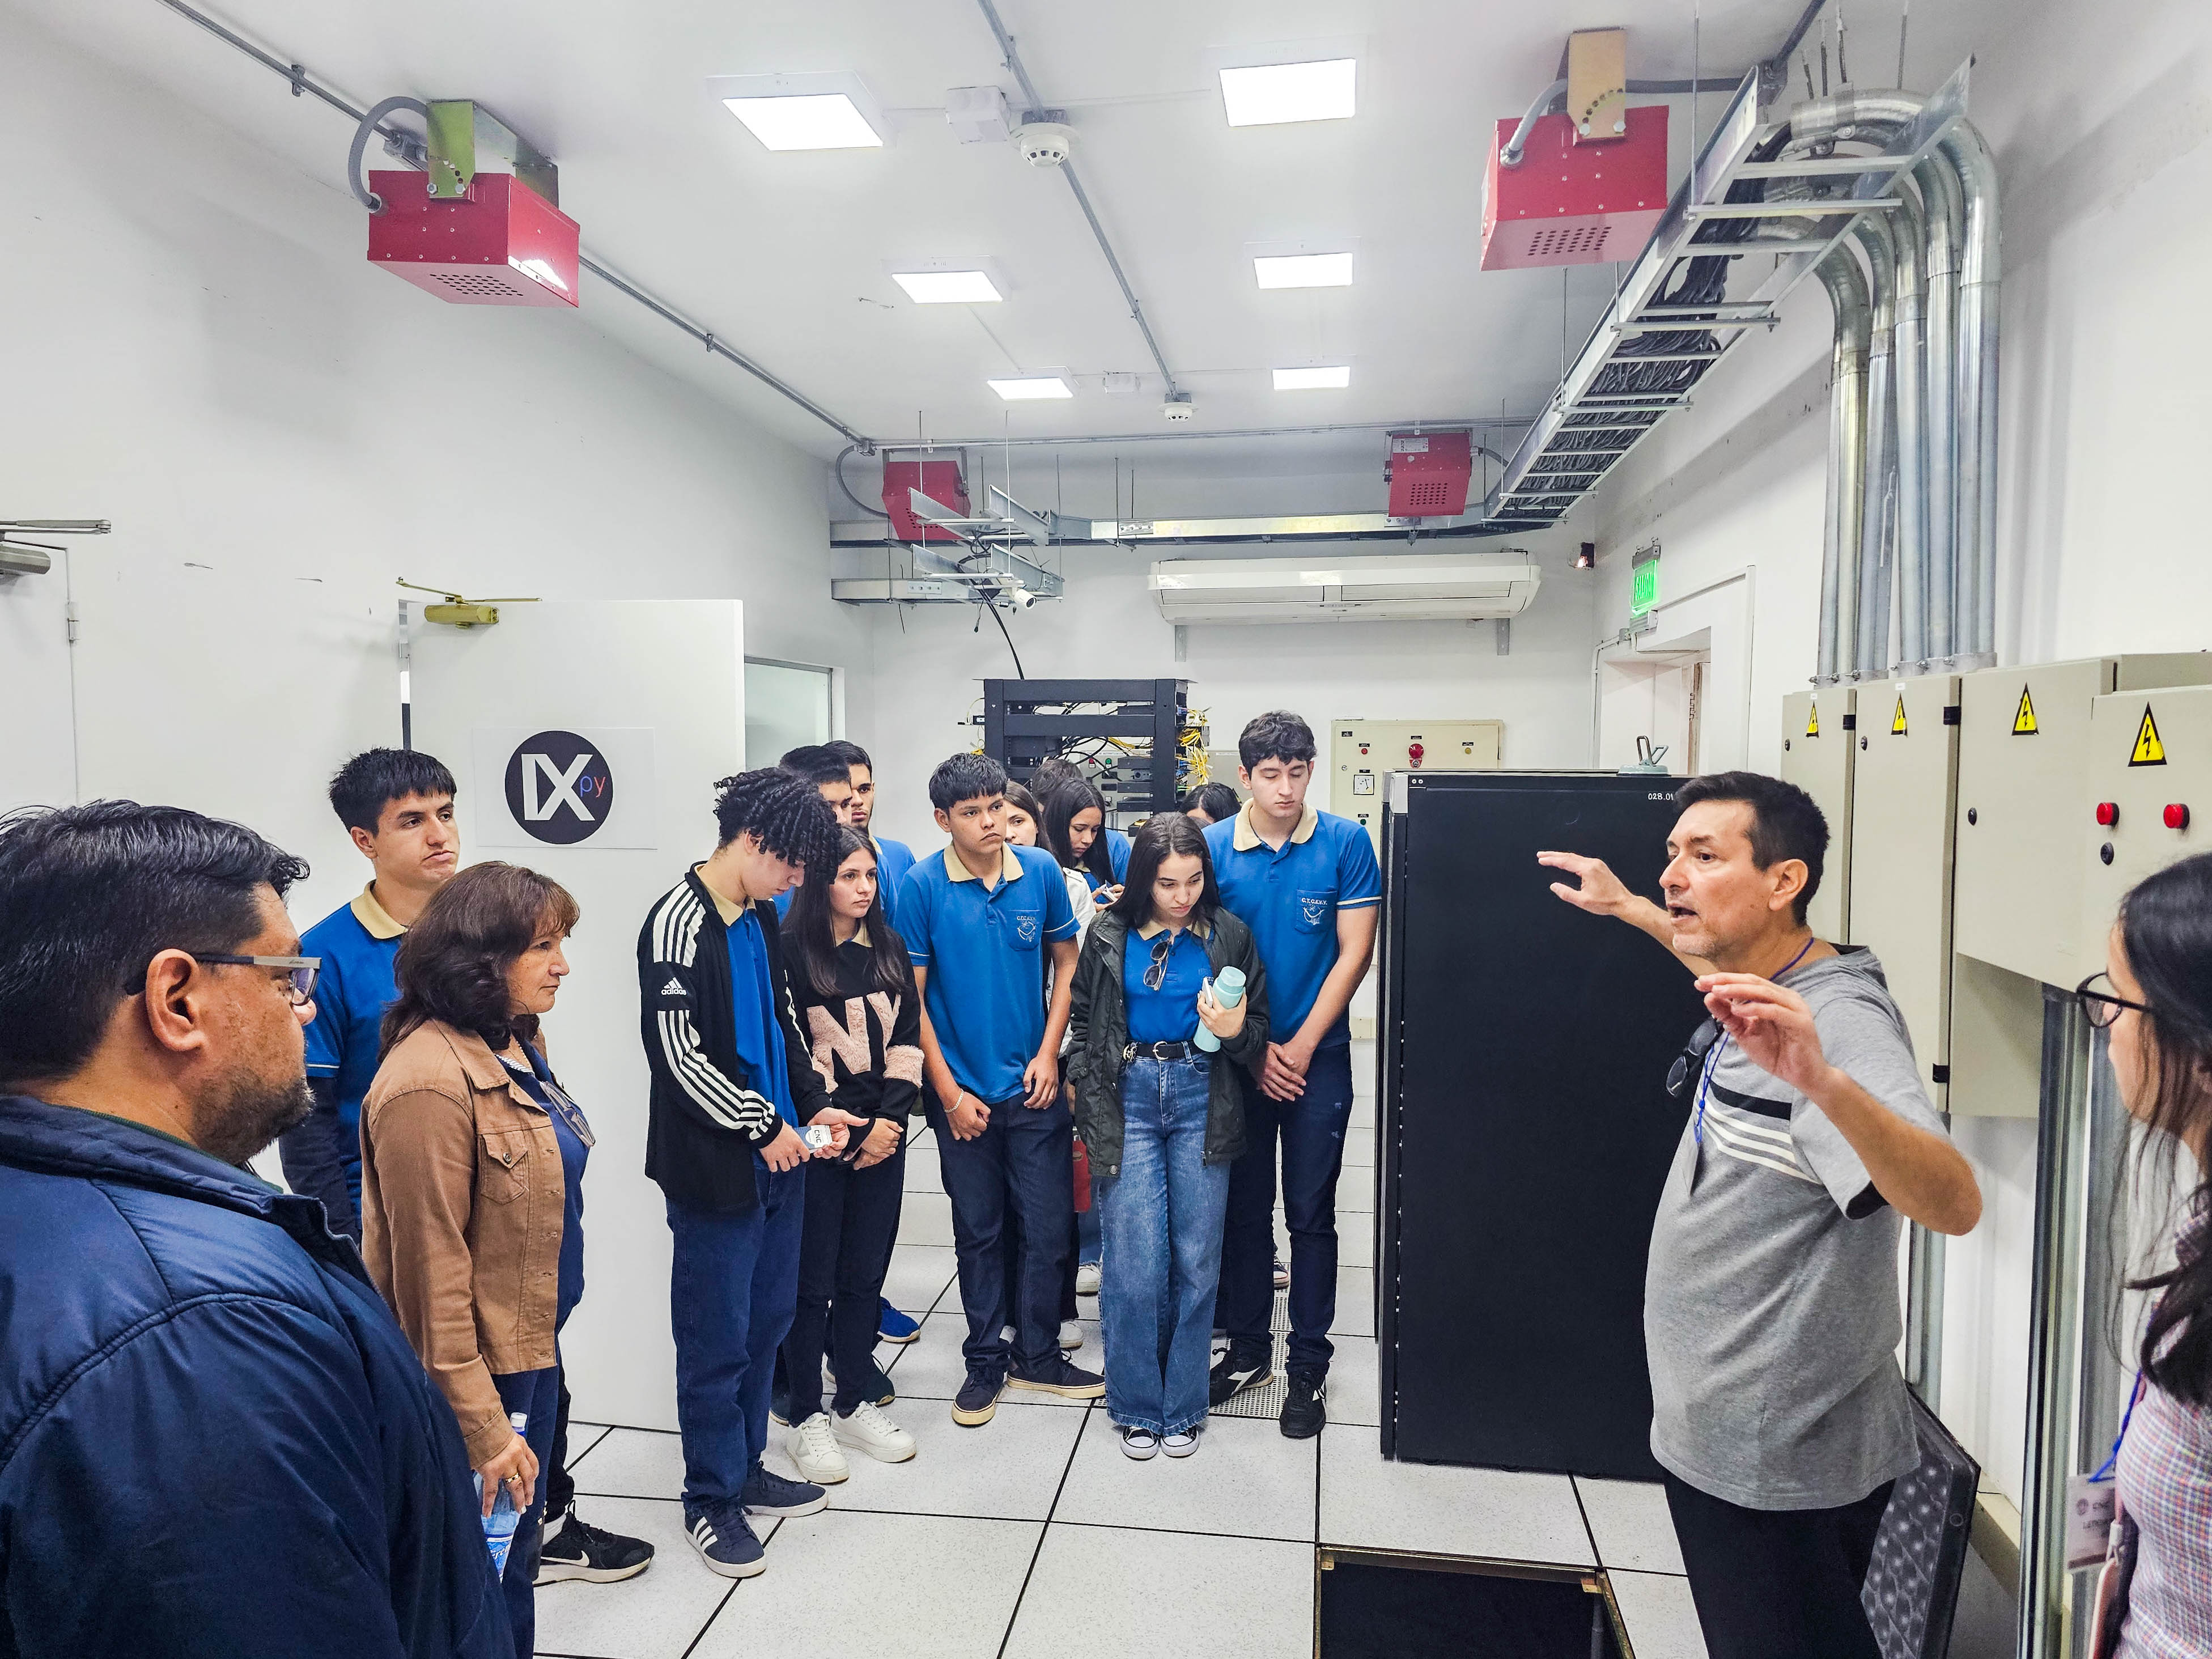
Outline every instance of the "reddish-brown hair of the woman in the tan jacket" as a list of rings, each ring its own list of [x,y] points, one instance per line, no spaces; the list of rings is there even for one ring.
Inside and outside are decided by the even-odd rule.
[[[431,894],[392,964],[398,1002],[385,1009],[378,1055],[392,1053],[416,1026],[442,1020],[473,1031],[491,1053],[509,1042],[535,1042],[538,1015],[515,1013],[507,969],[540,933],[573,933],[568,889],[522,865],[469,865]]]

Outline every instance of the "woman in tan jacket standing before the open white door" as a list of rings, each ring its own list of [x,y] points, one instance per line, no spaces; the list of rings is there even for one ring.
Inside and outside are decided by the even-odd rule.
[[[400,945],[361,1106],[361,1254],[460,1420],[484,1513],[502,1486],[524,1511],[504,1573],[520,1659],[535,1650],[555,1334],[584,1292],[591,1126],[538,1035],[575,918],[557,883],[520,865],[440,887]]]

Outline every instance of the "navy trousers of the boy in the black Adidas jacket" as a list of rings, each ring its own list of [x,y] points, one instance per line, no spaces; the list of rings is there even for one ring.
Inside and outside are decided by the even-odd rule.
[[[776,1175],[754,1155],[745,1214],[668,1201],[675,1272],[668,1323],[677,1338],[677,1429],[684,1433],[684,1515],[737,1502],[768,1449],[776,1349],[799,1310],[805,1166]]]

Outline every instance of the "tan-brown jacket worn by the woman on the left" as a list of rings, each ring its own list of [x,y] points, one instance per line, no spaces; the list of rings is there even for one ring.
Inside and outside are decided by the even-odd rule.
[[[513,1433],[491,1378],[553,1365],[562,1199],[553,1119],[482,1037],[429,1022],[385,1055],[361,1102],[361,1254],[469,1462]]]

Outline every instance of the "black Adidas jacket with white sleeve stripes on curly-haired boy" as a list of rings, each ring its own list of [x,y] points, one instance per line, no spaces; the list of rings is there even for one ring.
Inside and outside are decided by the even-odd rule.
[[[768,973],[783,995],[783,1055],[792,1106],[805,1124],[830,1104],[783,975],[776,907],[754,905]],[[714,896],[690,869],[646,911],[637,933],[639,1035],[653,1068],[646,1175],[677,1203],[743,1214],[761,1199],[752,1155],[776,1139],[776,1104],[737,1057],[730,1004],[730,936]]]

